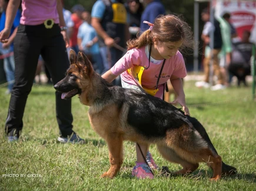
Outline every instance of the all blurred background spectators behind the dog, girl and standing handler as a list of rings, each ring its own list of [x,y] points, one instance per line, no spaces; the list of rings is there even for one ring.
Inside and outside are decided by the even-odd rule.
[[[0,31],[5,26],[5,11],[8,0],[0,0],[1,20]],[[115,6],[112,6],[115,4]],[[103,74],[110,69],[126,52],[126,42],[137,38],[141,31],[148,29],[143,21],[154,22],[158,15],[165,14],[164,6],[158,0],[98,0],[91,10],[82,5],[74,5],[70,10],[65,9],[63,15],[67,25],[70,49],[82,51],[92,62],[94,69]],[[247,86],[246,76],[251,73],[250,58],[253,43],[250,42],[250,31],[244,31],[238,38],[234,26],[230,22],[231,15],[226,12],[221,18],[210,22],[210,13],[204,9],[201,19],[205,22],[201,39],[204,41],[205,53],[203,61],[204,81],[195,83],[201,88],[211,88],[212,91],[225,89],[231,85],[234,76],[237,85]],[[6,94],[11,93],[14,84],[14,47],[13,41],[21,18],[18,10],[12,26],[8,43],[0,44],[0,59],[4,62],[6,81],[9,82]],[[210,33],[214,33],[214,46],[210,47]],[[211,81],[210,63],[212,62],[215,80]],[[42,73],[45,73],[47,84],[51,84],[51,75],[42,56],[38,58],[35,73],[35,83],[41,83]],[[116,79],[115,85],[120,85]],[[171,87],[169,87],[171,88]]]

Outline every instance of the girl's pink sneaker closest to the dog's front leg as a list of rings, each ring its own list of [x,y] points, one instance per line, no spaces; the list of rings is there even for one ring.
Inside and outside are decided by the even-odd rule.
[[[154,179],[154,175],[152,175],[149,166],[146,163],[134,166],[134,169],[132,169],[132,176],[136,176],[138,179]]]

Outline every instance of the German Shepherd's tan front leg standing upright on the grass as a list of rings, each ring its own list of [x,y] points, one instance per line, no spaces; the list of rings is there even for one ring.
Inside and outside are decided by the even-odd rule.
[[[114,177],[122,165],[122,136],[117,133],[112,133],[108,136],[108,150],[109,150],[109,162],[110,168],[108,172],[103,173],[101,177]]]

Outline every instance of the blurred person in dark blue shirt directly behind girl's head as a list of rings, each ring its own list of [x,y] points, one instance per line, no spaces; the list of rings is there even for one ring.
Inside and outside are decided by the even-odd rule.
[[[143,21],[154,23],[158,15],[165,15],[165,8],[161,0],[143,0],[143,4],[145,4],[145,10],[141,15],[140,24],[142,32],[148,29],[148,25],[144,24]]]

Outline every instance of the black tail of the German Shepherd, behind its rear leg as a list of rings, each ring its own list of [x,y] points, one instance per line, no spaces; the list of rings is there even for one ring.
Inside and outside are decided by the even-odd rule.
[[[218,152],[214,148],[214,145],[212,145],[212,142],[211,142],[204,126],[202,126],[202,124],[197,119],[191,118],[190,116],[188,116],[188,120],[189,120],[189,122],[192,123],[194,128],[200,133],[202,138],[208,143],[208,146],[210,147],[210,149],[212,150],[214,155],[218,155]],[[226,165],[224,162],[222,162],[222,175],[235,175],[236,173],[237,173],[237,169],[235,167]]]

